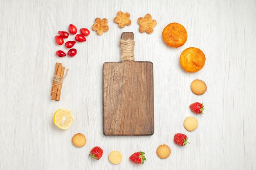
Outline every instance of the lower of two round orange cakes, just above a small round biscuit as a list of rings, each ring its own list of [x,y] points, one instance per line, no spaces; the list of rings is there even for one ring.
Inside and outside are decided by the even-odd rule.
[[[189,47],[180,54],[180,66],[187,72],[194,73],[204,67],[205,55],[195,47]]]

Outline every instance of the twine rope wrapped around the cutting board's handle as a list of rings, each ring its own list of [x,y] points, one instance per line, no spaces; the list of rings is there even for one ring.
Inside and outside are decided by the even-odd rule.
[[[120,40],[119,45],[121,46],[121,61],[135,61],[134,57],[134,40]]]

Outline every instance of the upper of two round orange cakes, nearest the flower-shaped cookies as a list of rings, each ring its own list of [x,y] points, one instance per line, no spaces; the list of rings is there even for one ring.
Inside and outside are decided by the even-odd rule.
[[[173,22],[164,28],[162,37],[168,46],[177,48],[185,44],[188,34],[182,24]]]

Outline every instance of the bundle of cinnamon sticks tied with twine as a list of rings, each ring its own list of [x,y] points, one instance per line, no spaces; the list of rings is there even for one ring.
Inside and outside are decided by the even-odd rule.
[[[62,82],[63,82],[63,76],[64,76],[65,67],[62,66],[61,63],[56,63],[55,66],[55,72],[52,82],[52,100],[59,101],[61,98],[61,88],[62,88]]]

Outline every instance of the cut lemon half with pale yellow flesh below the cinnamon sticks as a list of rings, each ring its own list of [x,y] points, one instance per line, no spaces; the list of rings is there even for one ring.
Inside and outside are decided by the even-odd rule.
[[[58,128],[68,129],[72,124],[73,116],[70,110],[65,108],[59,109],[54,113],[53,122]]]

